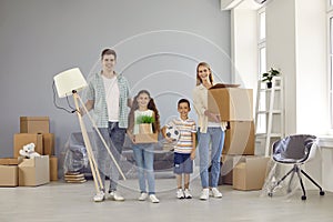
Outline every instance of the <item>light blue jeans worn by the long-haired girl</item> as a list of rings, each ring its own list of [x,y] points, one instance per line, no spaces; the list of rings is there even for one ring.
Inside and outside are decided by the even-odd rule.
[[[138,165],[138,178],[141,193],[147,193],[148,181],[148,193],[155,193],[155,179],[154,179],[154,147],[152,143],[133,144],[132,145],[134,159]]]

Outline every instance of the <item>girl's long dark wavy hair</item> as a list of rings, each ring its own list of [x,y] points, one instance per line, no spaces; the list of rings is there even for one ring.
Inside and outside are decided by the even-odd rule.
[[[135,124],[134,112],[135,112],[135,110],[139,109],[138,98],[142,93],[148,94],[148,97],[150,98],[150,101],[149,101],[147,108],[149,110],[152,110],[154,112],[154,114],[155,114],[155,121],[152,124],[153,132],[160,132],[160,113],[159,113],[159,110],[158,110],[158,108],[155,105],[154,99],[152,99],[150,97],[150,93],[147,90],[140,90],[140,92],[138,92],[138,94],[133,99],[131,111],[129,113],[129,130],[132,130],[134,128],[134,124]]]

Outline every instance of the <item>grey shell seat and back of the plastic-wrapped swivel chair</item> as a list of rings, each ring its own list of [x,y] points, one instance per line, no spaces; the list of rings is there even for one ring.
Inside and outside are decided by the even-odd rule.
[[[307,160],[311,148],[316,141],[316,137],[311,134],[283,138],[273,144],[273,160],[282,163],[303,163]]]

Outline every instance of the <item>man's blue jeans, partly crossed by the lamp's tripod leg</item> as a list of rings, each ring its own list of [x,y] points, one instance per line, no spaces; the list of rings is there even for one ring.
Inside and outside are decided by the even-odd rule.
[[[122,147],[124,142],[125,129],[119,128],[118,122],[109,122],[108,128],[99,128],[99,131],[103,139],[105,140],[111,153],[113,154],[117,163],[119,163],[120,155],[122,152]],[[103,186],[105,188],[105,175],[110,178],[109,191],[115,191],[119,181],[119,171],[112,161],[108,150],[105,149],[102,140],[94,131],[94,141],[98,148],[98,165],[99,172]],[[110,169],[108,169],[110,167]]]

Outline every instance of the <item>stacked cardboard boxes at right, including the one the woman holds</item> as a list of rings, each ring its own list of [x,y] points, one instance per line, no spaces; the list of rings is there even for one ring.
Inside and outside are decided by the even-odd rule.
[[[254,157],[252,93],[252,89],[241,88],[214,88],[208,93],[208,109],[220,113],[221,121],[228,122],[222,152],[222,181],[238,190],[260,190],[263,182],[253,174],[262,175],[266,169],[266,159]],[[256,183],[252,183],[254,180]]]

